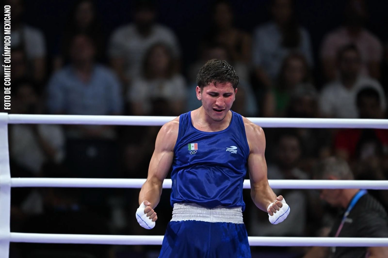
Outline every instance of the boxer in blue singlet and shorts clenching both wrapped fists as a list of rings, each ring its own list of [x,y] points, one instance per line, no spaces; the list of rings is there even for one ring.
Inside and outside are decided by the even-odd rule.
[[[272,224],[282,222],[290,211],[268,185],[263,129],[230,110],[238,84],[231,65],[209,60],[197,75],[196,95],[202,106],[159,131],[136,217],[142,227],[154,227],[154,208],[171,170],[173,215],[160,258],[251,257],[242,220],[247,170],[251,198],[268,212]]]

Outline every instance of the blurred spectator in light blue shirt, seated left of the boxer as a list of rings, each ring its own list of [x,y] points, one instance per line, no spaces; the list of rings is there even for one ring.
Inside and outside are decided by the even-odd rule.
[[[76,34],[71,40],[71,62],[49,81],[48,108],[53,114],[119,115],[123,109],[120,83],[115,74],[96,64],[95,46],[86,34]],[[118,147],[114,126],[66,126],[64,165],[69,177],[117,177]],[[108,194],[90,189],[80,201],[95,212],[103,212]]]

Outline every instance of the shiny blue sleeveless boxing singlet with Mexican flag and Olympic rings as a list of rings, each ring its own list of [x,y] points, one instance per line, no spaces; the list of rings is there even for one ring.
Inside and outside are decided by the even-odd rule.
[[[191,111],[180,115],[171,172],[171,206],[197,203],[207,208],[241,206],[249,146],[241,115],[232,112],[229,126],[218,132],[199,131]]]

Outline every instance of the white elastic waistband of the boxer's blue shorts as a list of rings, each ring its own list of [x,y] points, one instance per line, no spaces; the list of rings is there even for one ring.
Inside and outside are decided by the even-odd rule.
[[[171,221],[199,220],[205,222],[230,222],[243,224],[242,210],[239,207],[217,206],[213,209],[196,203],[174,203]]]

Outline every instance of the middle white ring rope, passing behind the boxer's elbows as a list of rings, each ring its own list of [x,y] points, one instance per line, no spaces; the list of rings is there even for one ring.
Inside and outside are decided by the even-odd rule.
[[[11,178],[11,187],[98,187],[141,188],[145,179],[111,178]],[[378,180],[268,180],[274,189],[346,189],[362,188],[388,190],[388,181]],[[163,188],[171,188],[171,179],[165,179]],[[244,189],[251,188],[248,179]]]

